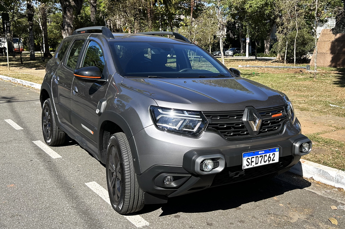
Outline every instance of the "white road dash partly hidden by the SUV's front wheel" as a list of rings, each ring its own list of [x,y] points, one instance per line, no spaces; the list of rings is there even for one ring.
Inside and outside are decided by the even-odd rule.
[[[103,200],[105,200],[109,205],[110,204],[110,199],[109,199],[109,194],[108,191],[100,186],[97,182],[92,181],[89,183],[85,183],[86,186],[91,188],[93,192],[95,192],[97,195],[99,195]],[[149,223],[143,219],[141,216],[124,216],[126,219],[128,219],[131,223],[134,224],[136,227],[143,227],[143,226],[148,226]]]

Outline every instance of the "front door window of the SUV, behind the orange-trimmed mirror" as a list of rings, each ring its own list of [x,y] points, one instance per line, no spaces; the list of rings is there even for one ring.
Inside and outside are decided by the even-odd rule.
[[[81,67],[96,66],[103,72],[104,65],[105,61],[101,47],[96,42],[90,41]]]

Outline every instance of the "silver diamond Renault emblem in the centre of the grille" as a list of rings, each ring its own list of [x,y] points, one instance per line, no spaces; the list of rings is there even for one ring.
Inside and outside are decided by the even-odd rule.
[[[246,107],[242,118],[249,135],[258,135],[262,118],[254,107]]]

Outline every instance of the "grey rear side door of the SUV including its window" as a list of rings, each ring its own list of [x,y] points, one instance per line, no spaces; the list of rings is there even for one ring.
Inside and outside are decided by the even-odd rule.
[[[53,79],[57,84],[57,101],[60,111],[59,119],[62,123],[68,125],[71,123],[71,88],[74,78],[73,72],[79,61],[79,54],[84,42],[85,39],[73,41],[66,58],[55,73],[55,79]]]

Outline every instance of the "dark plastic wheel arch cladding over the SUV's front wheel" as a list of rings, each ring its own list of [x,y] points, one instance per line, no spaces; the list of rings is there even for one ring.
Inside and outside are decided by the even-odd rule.
[[[114,111],[104,111],[99,120],[99,136],[98,136],[98,149],[101,157],[101,161],[106,163],[108,142],[112,134],[118,132],[124,132],[129,142],[130,150],[132,153],[134,171],[136,174],[141,174],[140,162],[137,152],[137,147],[133,133],[129,128],[128,123],[124,118]]]

